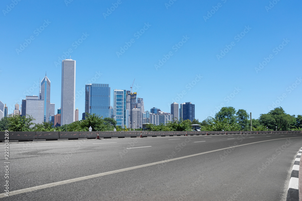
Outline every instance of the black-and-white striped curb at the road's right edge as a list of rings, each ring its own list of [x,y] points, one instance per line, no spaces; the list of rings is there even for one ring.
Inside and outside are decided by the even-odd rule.
[[[291,171],[291,179],[288,184],[286,201],[299,201],[299,169],[302,148],[296,156],[293,169]]]

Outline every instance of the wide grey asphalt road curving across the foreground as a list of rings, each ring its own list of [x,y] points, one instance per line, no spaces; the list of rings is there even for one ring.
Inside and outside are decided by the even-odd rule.
[[[273,201],[286,198],[302,134],[12,142],[9,160],[0,146],[1,200]]]

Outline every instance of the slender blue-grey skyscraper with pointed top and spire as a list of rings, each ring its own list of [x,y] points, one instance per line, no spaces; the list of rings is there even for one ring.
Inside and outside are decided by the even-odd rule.
[[[44,122],[48,122],[50,117],[50,80],[48,79],[46,74],[41,81],[40,94],[40,99],[44,102]]]

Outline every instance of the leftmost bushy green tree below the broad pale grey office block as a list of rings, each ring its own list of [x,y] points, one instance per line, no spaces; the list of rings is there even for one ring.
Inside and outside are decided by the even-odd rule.
[[[20,115],[12,115],[7,120],[9,131],[32,131],[31,126],[34,125],[32,121],[35,119],[31,115],[22,117]]]

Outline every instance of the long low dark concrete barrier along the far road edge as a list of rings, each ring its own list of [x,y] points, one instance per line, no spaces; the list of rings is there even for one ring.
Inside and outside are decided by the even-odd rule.
[[[260,134],[260,133],[302,133],[302,131],[94,131],[94,132],[9,132],[9,140],[58,140],[58,139],[95,139],[99,137],[156,137],[156,136],[181,136],[181,135],[223,135],[223,134]],[[5,140],[5,132],[0,132],[0,141]]]

